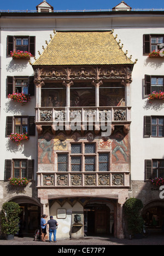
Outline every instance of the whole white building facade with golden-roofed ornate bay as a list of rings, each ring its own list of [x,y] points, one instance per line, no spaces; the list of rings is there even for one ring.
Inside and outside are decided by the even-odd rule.
[[[124,238],[129,197],[161,229],[164,203],[150,179],[164,178],[164,114],[149,94],[163,91],[163,15],[124,1],[95,12],[58,12],[46,1],[1,12],[0,197],[22,207],[24,233],[44,213],[57,219],[59,238]],[[12,133],[30,139],[19,144]],[[30,183],[17,188],[10,177]]]

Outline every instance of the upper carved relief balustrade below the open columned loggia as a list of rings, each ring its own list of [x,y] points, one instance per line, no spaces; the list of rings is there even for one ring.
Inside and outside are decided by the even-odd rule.
[[[101,121],[126,124],[131,122],[130,109],[131,107],[38,107],[36,124],[101,123]]]

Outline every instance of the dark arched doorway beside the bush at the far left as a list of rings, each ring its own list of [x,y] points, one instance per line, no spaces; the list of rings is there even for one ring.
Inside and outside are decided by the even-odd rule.
[[[14,197],[10,201],[16,202],[21,208],[19,236],[33,235],[40,226],[40,205],[30,197]]]

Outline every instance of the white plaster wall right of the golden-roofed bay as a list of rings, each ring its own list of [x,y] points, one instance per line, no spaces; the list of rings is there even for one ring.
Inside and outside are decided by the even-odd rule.
[[[144,180],[144,160],[164,157],[164,138],[144,138],[144,115],[164,115],[164,103],[151,104],[144,96],[144,75],[163,75],[163,59],[150,59],[143,56],[143,34],[162,34],[163,28],[122,28],[115,29],[117,39],[124,43],[123,50],[132,54],[132,60],[138,59],[132,72],[131,84],[131,172],[132,180]],[[157,107],[157,108],[156,108]]]

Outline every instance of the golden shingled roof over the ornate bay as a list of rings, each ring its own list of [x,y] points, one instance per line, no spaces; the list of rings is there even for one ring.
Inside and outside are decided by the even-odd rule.
[[[133,64],[111,31],[56,32],[32,66]]]

